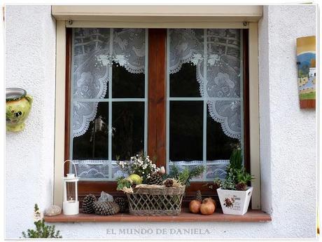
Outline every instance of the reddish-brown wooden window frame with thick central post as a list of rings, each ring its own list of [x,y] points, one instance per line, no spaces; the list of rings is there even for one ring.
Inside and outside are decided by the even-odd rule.
[[[248,69],[248,29],[243,32],[243,88],[244,88],[244,164],[250,171],[249,146],[249,69]],[[167,29],[148,29],[148,154],[156,156],[157,166],[167,167],[166,161],[166,83],[167,83]],[[69,159],[70,152],[70,110],[71,110],[71,28],[66,28],[66,66],[65,66],[65,128],[64,128],[64,159]],[[64,174],[69,170],[65,163]],[[209,189],[207,182],[191,182],[186,190],[183,204],[195,196],[195,191],[201,190],[203,196],[214,196],[216,191]],[[78,197],[80,201],[87,194],[99,196],[101,191],[107,191],[112,196],[125,196],[122,191],[116,191],[117,183],[113,181],[80,181],[78,182]]]

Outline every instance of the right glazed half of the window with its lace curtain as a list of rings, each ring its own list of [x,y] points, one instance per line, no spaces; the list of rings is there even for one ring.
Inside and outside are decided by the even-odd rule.
[[[167,31],[167,166],[204,165],[197,181],[224,178],[244,138],[241,37],[241,29]]]

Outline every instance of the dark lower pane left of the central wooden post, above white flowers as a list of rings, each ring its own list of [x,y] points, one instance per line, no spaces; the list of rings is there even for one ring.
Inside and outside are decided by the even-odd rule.
[[[144,151],[144,102],[113,102],[112,159]]]

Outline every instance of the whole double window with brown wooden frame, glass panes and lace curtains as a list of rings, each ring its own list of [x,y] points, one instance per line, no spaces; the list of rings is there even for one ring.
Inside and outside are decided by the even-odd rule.
[[[68,29],[65,159],[76,162],[80,196],[117,193],[113,181],[123,175],[117,157],[140,151],[167,171],[204,164],[188,196],[196,189],[214,193],[204,184],[225,176],[239,142],[248,169],[247,34]]]

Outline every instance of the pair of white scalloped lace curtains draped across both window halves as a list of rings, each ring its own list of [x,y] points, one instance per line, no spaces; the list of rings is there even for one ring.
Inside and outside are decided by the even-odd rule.
[[[98,102],[84,99],[105,97],[113,62],[144,73],[145,36],[145,29],[73,29],[73,137],[83,135],[95,118]],[[240,139],[240,30],[169,29],[169,41],[169,73],[186,62],[196,65],[209,114],[225,135]]]

